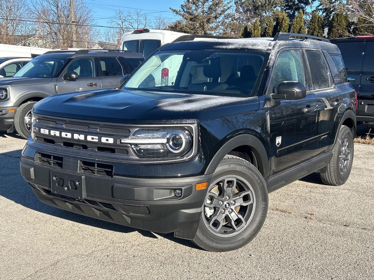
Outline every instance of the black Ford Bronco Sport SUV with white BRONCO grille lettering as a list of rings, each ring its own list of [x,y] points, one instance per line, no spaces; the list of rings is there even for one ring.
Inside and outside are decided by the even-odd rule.
[[[37,103],[21,173],[49,205],[229,251],[256,236],[269,192],[312,172],[346,182],[355,106],[325,39],[171,43],[120,88]]]

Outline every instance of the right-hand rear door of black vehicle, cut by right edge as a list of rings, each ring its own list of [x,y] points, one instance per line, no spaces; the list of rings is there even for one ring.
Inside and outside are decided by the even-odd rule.
[[[374,41],[365,42],[358,100],[357,115],[374,116]]]

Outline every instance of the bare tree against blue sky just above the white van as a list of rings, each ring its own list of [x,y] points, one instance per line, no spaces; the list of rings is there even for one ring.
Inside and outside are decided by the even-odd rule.
[[[150,24],[147,15],[142,10],[117,10],[110,23],[113,27],[119,28],[122,34],[138,28],[145,28]]]

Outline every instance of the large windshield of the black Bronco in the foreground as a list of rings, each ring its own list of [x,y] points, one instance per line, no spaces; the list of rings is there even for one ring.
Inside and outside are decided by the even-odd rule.
[[[249,97],[267,56],[237,50],[160,51],[122,89]]]

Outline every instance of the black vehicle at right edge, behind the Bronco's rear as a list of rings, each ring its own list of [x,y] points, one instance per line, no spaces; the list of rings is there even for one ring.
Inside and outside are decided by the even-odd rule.
[[[357,122],[374,127],[374,36],[330,41],[339,47],[346,65],[348,81],[357,92]]]

